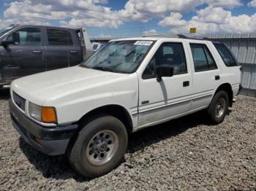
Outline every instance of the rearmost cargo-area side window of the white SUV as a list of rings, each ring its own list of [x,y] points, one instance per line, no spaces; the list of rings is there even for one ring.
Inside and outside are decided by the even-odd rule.
[[[226,66],[238,66],[230,50],[222,43],[214,43]]]

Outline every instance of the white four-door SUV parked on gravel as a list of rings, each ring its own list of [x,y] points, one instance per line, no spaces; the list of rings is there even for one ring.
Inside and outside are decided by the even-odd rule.
[[[121,163],[129,133],[202,109],[222,122],[240,84],[240,66],[221,43],[118,39],[79,66],[12,82],[10,114],[33,147],[66,154],[95,177]]]

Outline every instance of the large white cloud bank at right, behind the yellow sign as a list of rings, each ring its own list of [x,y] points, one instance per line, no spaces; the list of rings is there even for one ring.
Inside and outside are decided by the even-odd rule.
[[[197,28],[198,34],[249,33],[256,31],[256,13],[233,16],[220,7],[206,7],[197,11],[191,20],[182,20],[180,13],[172,13],[161,20],[159,26],[170,26],[170,31],[176,34],[188,34],[189,28]]]

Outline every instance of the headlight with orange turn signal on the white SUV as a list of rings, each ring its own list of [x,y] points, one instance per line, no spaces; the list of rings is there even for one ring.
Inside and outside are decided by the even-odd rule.
[[[29,115],[41,122],[57,122],[56,110],[51,106],[38,106],[29,102]]]

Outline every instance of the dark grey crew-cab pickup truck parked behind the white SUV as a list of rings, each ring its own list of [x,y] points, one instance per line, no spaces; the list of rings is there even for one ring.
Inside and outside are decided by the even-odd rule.
[[[19,77],[78,65],[93,52],[84,28],[12,25],[0,29],[0,89]]]

